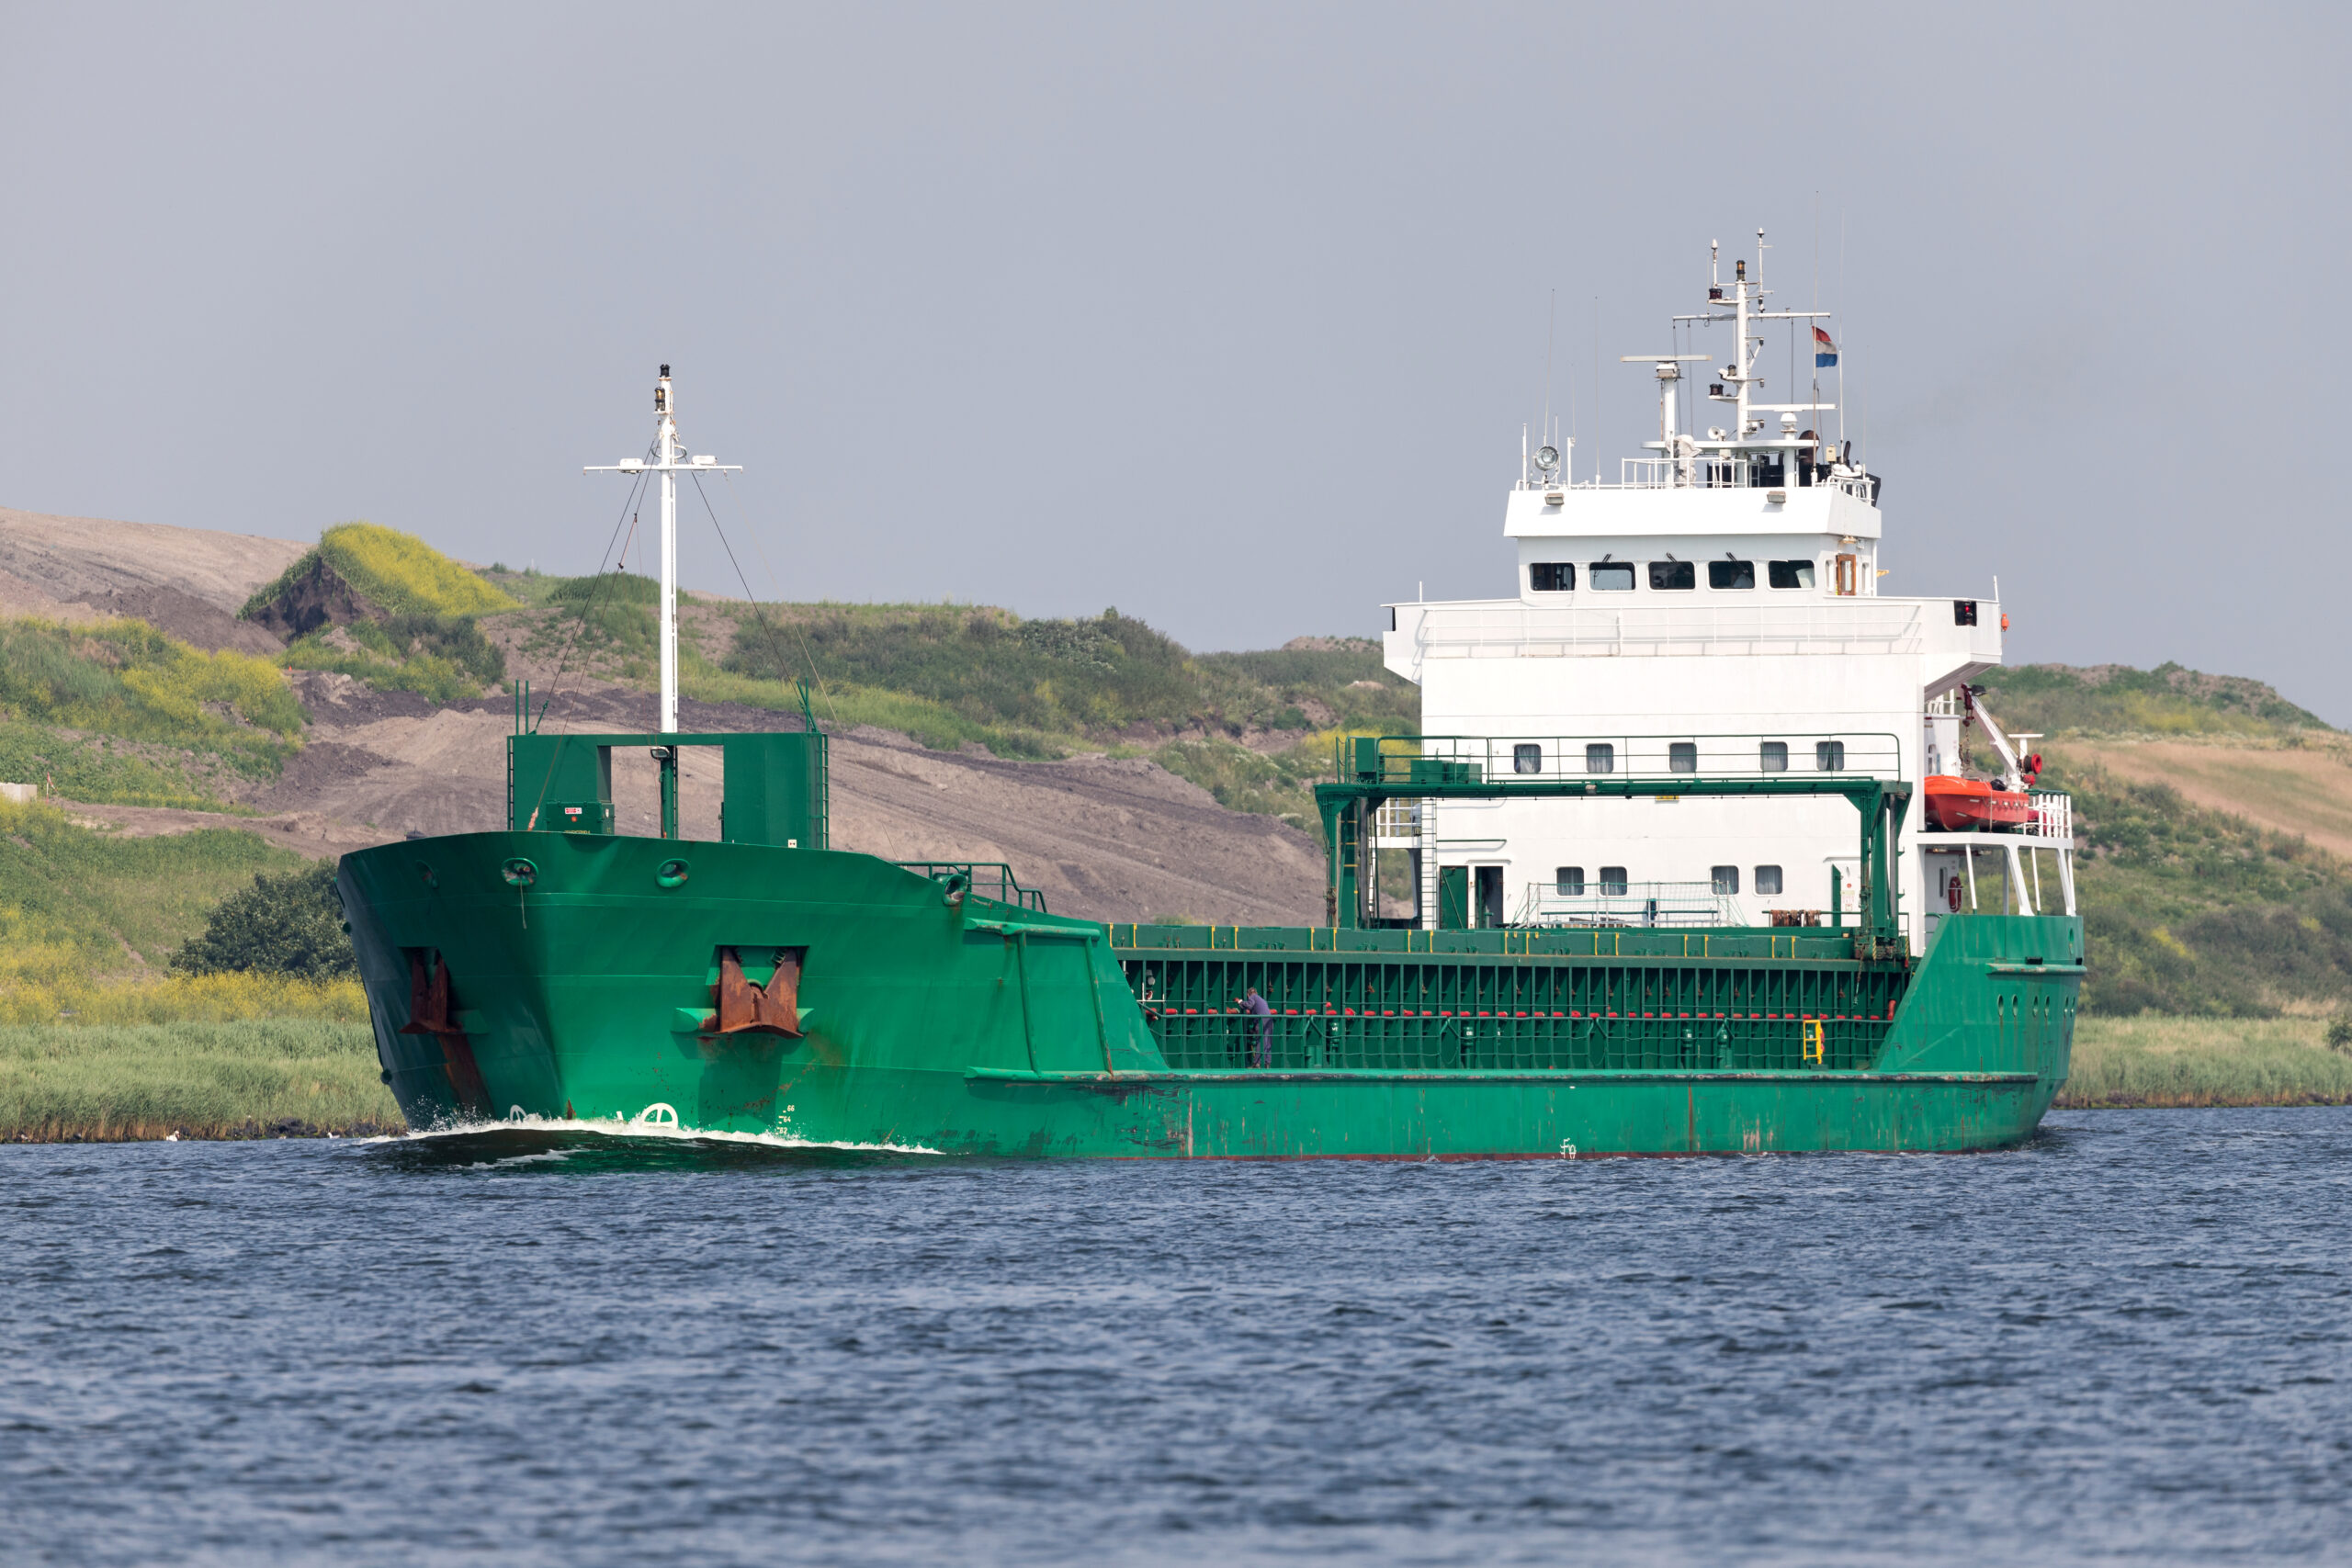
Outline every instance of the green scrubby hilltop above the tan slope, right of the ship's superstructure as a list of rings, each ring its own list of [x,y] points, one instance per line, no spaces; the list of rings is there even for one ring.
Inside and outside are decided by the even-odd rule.
[[[2173,663],[2154,670],[2013,665],[1987,670],[1980,679],[1985,705],[2002,729],[2042,736],[2279,736],[2328,729],[2263,682]]]

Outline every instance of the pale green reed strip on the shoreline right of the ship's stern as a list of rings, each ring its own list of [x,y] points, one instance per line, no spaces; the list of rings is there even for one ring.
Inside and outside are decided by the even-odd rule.
[[[2352,1053],[2317,1018],[2082,1018],[2058,1105],[2345,1105]]]

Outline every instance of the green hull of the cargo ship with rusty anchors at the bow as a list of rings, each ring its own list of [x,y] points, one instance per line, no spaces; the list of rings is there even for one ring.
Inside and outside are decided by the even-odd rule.
[[[527,886],[501,877],[517,858]],[[341,893],[419,1128],[675,1117],[978,1157],[1985,1150],[2049,1110],[2082,985],[2067,917],[1952,917],[1919,961],[1818,929],[1105,929],[870,856],[607,835],[386,844],[343,858]],[[800,1037],[708,1027],[722,947],[804,950]],[[428,952],[449,1030],[405,1032]],[[1277,1009],[1263,1067],[1247,987]]]

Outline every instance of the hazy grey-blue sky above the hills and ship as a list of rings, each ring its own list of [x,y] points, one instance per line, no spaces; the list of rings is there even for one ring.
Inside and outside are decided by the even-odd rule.
[[[2345,7],[0,28],[0,505],[593,571],[628,482],[581,465],[644,451],[668,362],[743,465],[682,501],[689,585],[1371,635],[1512,592],[1522,425],[1616,477],[1656,421],[1618,355],[1764,228],[1776,303],[1837,313],[1884,592],[1999,578],[2011,663],[2352,724]]]

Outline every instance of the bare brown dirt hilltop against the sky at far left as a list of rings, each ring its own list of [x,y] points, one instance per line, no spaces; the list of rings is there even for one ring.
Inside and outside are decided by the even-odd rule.
[[[0,508],[0,616],[136,616],[200,649],[275,654],[238,607],[308,545],[160,522]]]

